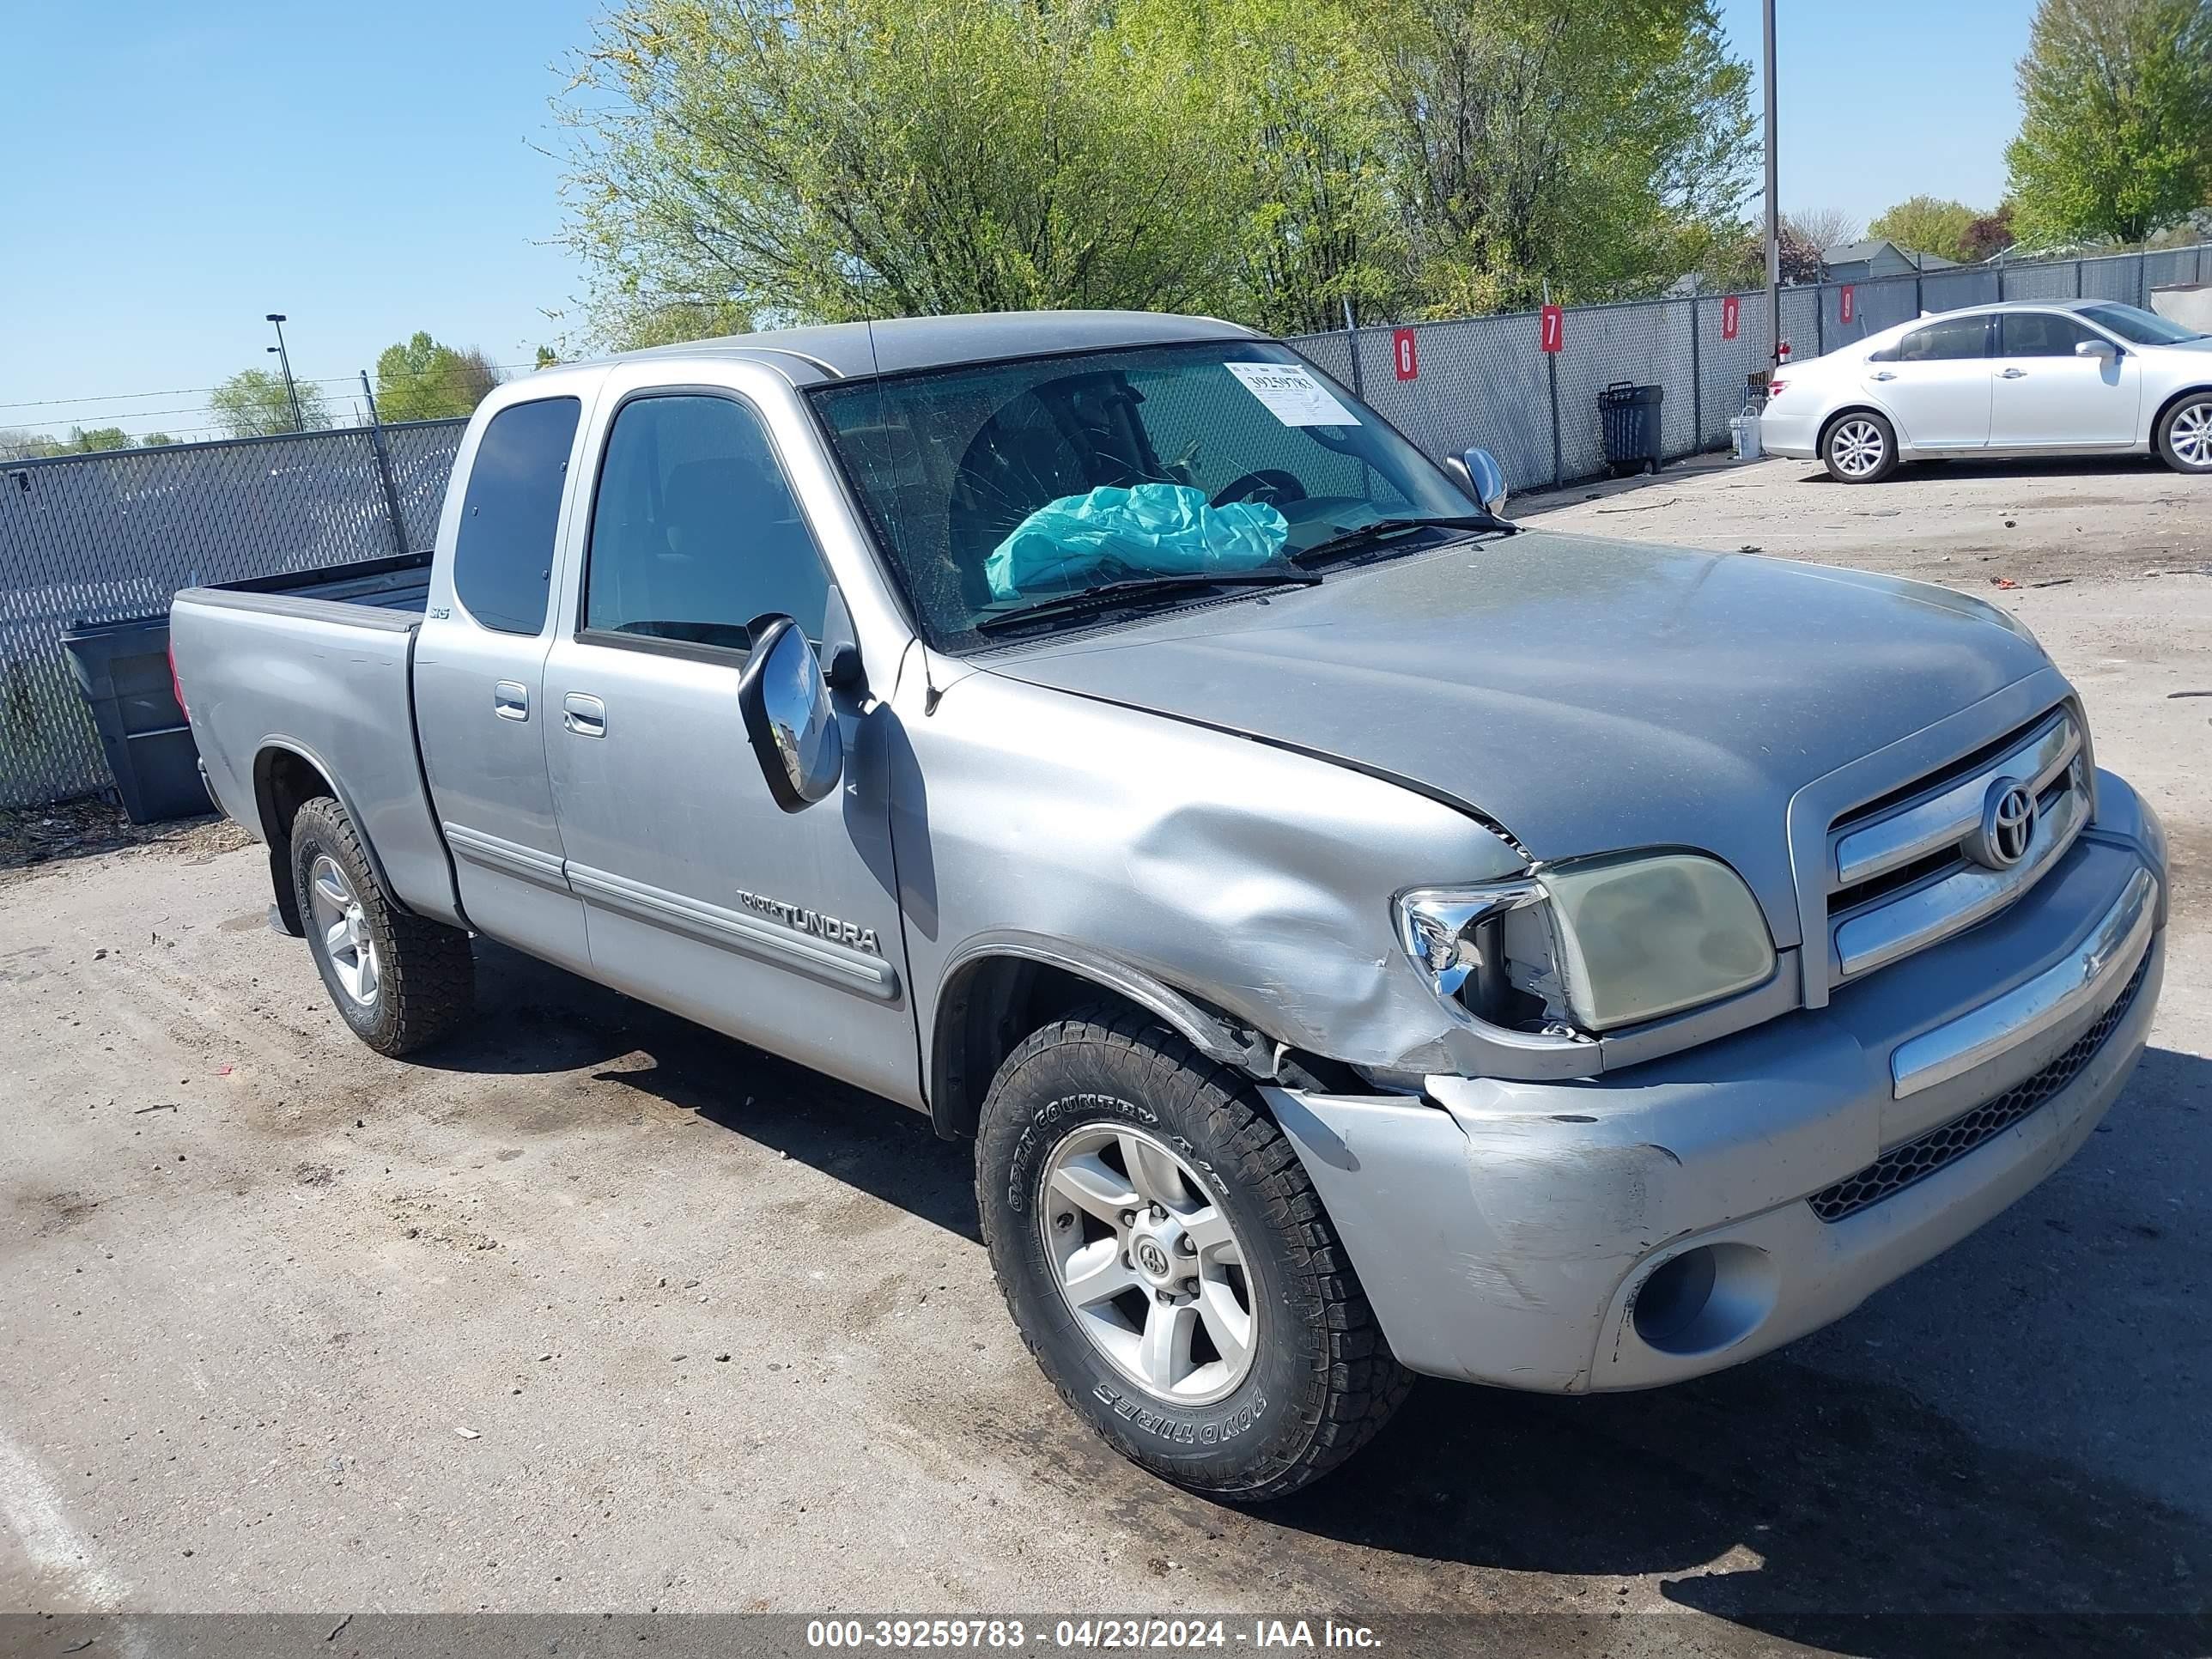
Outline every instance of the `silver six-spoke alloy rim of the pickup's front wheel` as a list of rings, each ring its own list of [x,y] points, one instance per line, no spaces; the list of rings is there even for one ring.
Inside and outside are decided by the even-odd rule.
[[[1172,1405],[1234,1391],[1259,1307],[1228,1212],[1164,1141],[1086,1124],[1044,1164],[1037,1225],[1077,1327],[1130,1383]]]

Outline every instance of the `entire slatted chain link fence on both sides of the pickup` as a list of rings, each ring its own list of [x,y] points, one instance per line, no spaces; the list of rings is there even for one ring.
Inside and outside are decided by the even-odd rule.
[[[1971,265],[1785,288],[1783,338],[1820,356],[1922,312],[2000,299],[2115,299],[2212,281],[2212,248]],[[1734,312],[1734,327],[1730,327]],[[1537,312],[1416,323],[1400,378],[1394,330],[1294,338],[1436,458],[1480,445],[1515,491],[1604,469],[1597,394],[1663,387],[1668,460],[1728,445],[1747,380],[1774,361],[1763,294],[1584,305],[1562,349]],[[0,805],[108,787],[62,628],[168,608],[177,588],[427,549],[462,420],[422,420],[0,465]]]

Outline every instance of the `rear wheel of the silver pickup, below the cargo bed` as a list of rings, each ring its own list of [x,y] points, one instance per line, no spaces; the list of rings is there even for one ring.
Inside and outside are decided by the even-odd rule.
[[[316,973],[338,1015],[376,1053],[414,1053],[469,1018],[469,936],[392,905],[352,818],[327,794],[292,818],[292,885]]]

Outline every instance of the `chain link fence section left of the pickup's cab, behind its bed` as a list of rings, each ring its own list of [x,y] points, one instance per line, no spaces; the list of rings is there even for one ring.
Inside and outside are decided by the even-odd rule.
[[[64,628],[429,546],[465,425],[383,427],[389,491],[369,427],[0,465],[0,807],[108,787]]]

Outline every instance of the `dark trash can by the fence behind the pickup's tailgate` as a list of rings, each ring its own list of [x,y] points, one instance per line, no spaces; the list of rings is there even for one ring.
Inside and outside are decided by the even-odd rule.
[[[199,776],[199,748],[168,677],[168,617],[73,622],[62,630],[108,772],[131,823],[215,812]]]

